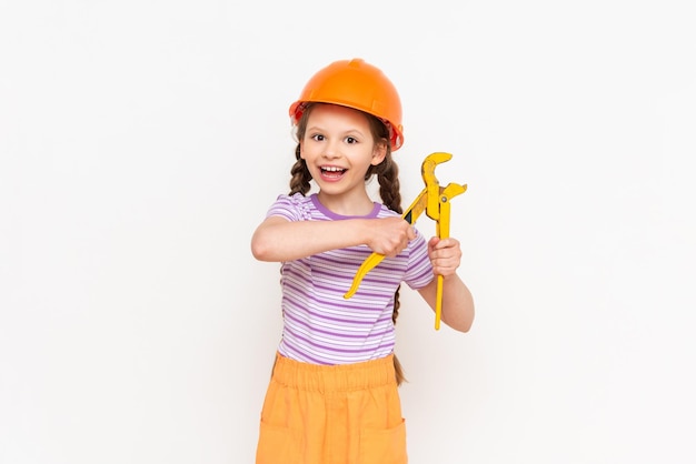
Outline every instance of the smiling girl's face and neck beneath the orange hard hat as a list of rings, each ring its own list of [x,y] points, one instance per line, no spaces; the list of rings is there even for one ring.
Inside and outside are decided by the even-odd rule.
[[[300,157],[324,199],[365,200],[365,174],[386,154],[385,143],[375,142],[368,119],[360,111],[336,104],[311,109],[300,140]]]

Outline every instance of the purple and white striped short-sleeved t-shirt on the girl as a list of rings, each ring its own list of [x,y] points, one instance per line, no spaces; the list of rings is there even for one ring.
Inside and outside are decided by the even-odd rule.
[[[370,214],[398,215],[380,203]],[[288,221],[337,221],[355,219],[327,210],[316,194],[279,195],[267,216]],[[358,268],[371,253],[367,245],[332,250],[281,265],[282,337],[281,355],[312,364],[349,364],[389,355],[395,345],[391,322],[394,293],[405,282],[420,289],[432,280],[425,238],[416,239],[395,258],[385,258],[362,279],[350,299]]]

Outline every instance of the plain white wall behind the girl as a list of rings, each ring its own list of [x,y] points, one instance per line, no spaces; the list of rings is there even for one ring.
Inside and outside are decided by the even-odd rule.
[[[405,290],[410,462],[692,463],[689,1],[0,6],[0,463],[250,463],[280,330],[252,230],[287,107],[397,84],[454,159],[470,333]],[[418,226],[432,234],[426,218]]]

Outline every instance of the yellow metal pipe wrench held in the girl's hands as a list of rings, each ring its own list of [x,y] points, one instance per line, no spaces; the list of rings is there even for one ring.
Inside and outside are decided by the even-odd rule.
[[[439,163],[451,160],[450,153],[435,152],[426,157],[420,168],[422,180],[426,184],[425,189],[418,194],[416,200],[402,214],[402,218],[409,224],[414,224],[418,216],[425,211],[426,215],[436,221],[436,233],[440,239],[449,236],[449,215],[450,200],[466,192],[466,184],[459,185],[449,183],[447,186],[440,186],[435,176],[435,167]],[[384,254],[372,253],[360,265],[358,272],[352,280],[350,290],[344,295],[345,299],[351,297],[360,286],[362,278],[370,272],[377,264],[385,259]],[[440,329],[440,317],[443,315],[443,276],[437,276],[437,300],[435,306],[435,330]]]

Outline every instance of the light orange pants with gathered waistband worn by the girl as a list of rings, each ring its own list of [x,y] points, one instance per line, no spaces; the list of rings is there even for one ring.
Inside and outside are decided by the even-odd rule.
[[[394,360],[315,365],[276,356],[257,464],[406,464]]]

